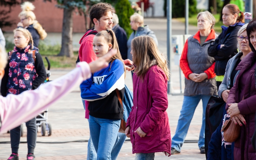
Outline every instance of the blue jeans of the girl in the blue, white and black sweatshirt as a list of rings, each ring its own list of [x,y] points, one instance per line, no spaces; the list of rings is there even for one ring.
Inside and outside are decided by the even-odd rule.
[[[97,153],[97,160],[111,160],[111,151],[116,143],[121,119],[102,119],[89,117],[92,143]]]

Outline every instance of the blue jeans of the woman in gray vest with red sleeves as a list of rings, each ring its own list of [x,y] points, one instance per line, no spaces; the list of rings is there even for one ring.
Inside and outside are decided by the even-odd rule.
[[[205,114],[206,106],[211,96],[208,95],[196,95],[196,96],[184,96],[183,105],[180,111],[180,118],[174,137],[172,138],[172,148],[175,148],[178,152],[181,151],[181,146],[186,138],[188,127],[194,115],[194,111],[200,100],[203,101],[203,119],[202,127],[199,135],[198,146],[199,148],[204,146],[204,130],[205,130]]]

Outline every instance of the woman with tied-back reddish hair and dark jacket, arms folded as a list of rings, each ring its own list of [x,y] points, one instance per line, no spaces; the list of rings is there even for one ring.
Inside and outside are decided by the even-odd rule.
[[[208,48],[209,56],[216,60],[214,71],[218,90],[224,78],[228,60],[238,53],[236,36],[244,25],[244,13],[237,5],[228,4],[223,8],[222,19],[225,25],[222,26],[222,33]]]

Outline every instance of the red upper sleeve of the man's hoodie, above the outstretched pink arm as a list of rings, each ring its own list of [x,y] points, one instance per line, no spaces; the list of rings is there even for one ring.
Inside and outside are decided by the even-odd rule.
[[[87,40],[86,42],[81,43],[81,46],[79,48],[79,59],[80,62],[85,61],[87,63],[94,62],[98,59],[94,53],[92,41]]]

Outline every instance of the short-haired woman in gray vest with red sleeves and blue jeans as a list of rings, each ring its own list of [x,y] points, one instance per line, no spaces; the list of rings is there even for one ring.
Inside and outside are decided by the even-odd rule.
[[[217,95],[214,73],[215,60],[207,53],[210,44],[218,37],[213,30],[214,24],[215,18],[210,12],[200,12],[197,15],[197,28],[199,31],[187,39],[183,48],[180,67],[186,77],[184,100],[176,132],[172,138],[171,154],[180,153],[194,111],[201,99],[203,101],[203,119],[198,146],[200,153],[205,153],[204,130],[206,106],[210,96]]]

